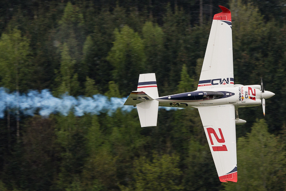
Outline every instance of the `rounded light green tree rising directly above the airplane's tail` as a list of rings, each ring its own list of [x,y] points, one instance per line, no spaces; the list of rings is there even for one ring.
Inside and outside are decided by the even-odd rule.
[[[137,81],[139,74],[145,71],[144,43],[128,26],[124,26],[120,32],[116,29],[114,36],[115,41],[107,60],[114,67],[114,81],[124,90],[123,94],[127,94],[132,91],[132,82]]]

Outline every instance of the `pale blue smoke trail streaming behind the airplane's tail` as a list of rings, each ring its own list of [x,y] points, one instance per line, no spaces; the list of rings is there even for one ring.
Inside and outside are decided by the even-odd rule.
[[[39,112],[43,117],[48,117],[51,113],[61,113],[66,116],[70,111],[73,111],[76,116],[82,116],[85,113],[99,115],[103,112],[111,115],[117,109],[130,112],[134,107],[124,106],[126,99],[116,97],[108,99],[108,97],[100,94],[92,97],[79,96],[77,98],[64,94],[60,98],[56,98],[49,90],[29,91],[17,98],[16,92],[9,94],[5,91],[5,88],[0,88],[0,118],[4,118],[6,109],[9,108],[13,112],[18,107],[23,115],[33,116],[36,112]],[[19,105],[17,100],[19,100]]]

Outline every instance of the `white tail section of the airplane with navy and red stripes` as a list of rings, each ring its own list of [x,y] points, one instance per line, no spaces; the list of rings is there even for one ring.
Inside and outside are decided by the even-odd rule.
[[[140,74],[137,91],[130,93],[124,105],[137,106],[141,127],[157,126],[158,97],[155,74]]]

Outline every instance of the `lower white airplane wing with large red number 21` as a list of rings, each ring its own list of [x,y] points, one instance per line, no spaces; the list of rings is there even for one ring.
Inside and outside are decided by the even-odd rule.
[[[198,108],[220,181],[237,182],[235,108]]]

